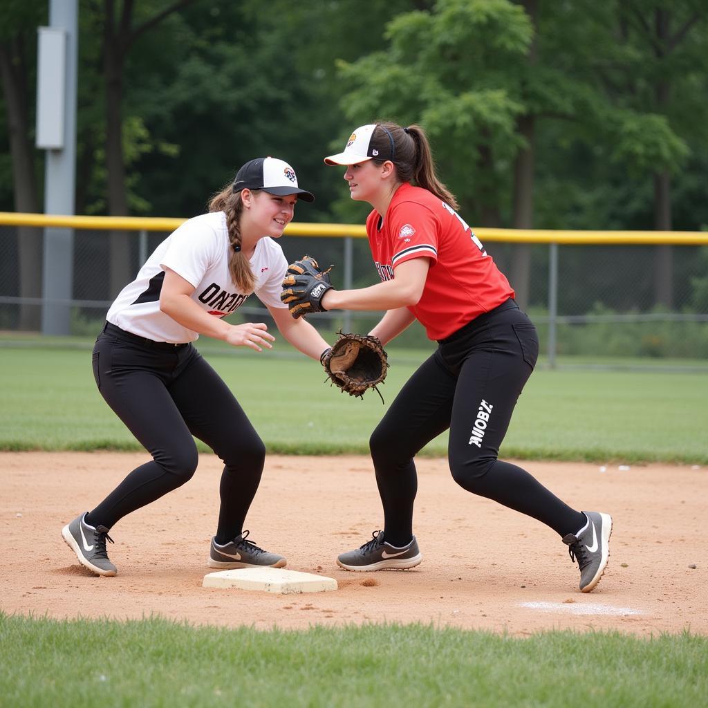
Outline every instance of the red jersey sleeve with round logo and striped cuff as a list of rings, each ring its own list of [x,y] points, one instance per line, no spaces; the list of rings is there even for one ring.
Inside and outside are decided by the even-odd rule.
[[[401,202],[394,207],[388,227],[394,269],[413,258],[430,258],[430,265],[438,261],[440,224],[428,207],[416,202]]]

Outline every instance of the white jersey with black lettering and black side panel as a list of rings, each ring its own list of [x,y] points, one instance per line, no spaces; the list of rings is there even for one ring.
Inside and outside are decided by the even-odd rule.
[[[191,297],[216,317],[231,314],[244,304],[229,274],[229,232],[224,212],[203,214],[181,224],[154,250],[137,278],[126,285],[108,310],[106,319],[128,332],[156,342],[192,342],[199,334],[183,327],[160,310],[160,290],[165,268],[194,285]],[[270,307],[287,308],[280,301],[287,261],[269,236],[256,243],[249,263],[256,277],[255,292]]]

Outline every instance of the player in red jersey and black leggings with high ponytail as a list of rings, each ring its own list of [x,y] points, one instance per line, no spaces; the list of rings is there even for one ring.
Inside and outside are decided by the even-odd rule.
[[[391,122],[357,128],[326,164],[346,166],[351,198],[373,208],[366,227],[379,278],[360,290],[329,290],[325,309],[386,309],[370,332],[386,344],[414,319],[438,341],[372,433],[370,448],[384,529],[337,562],[350,571],[412,568],[417,479],[413,458],[450,429],[457,484],[555,530],[578,560],[580,589],[607,565],[609,515],[576,511],[515,464],[497,459],[511,413],[538,355],[514,291],[438,181],[425,132]]]

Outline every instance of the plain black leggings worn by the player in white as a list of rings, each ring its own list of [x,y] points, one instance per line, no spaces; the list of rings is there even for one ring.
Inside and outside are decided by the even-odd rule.
[[[222,459],[217,541],[243,530],[261,481],[265,446],[222,379],[191,344],[150,342],[107,324],[93,349],[101,395],[152,455],[88,516],[112,527],[120,518],[191,479],[199,438]]]

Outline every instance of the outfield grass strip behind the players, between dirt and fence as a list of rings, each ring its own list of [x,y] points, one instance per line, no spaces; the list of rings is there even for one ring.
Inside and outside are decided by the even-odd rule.
[[[380,387],[387,404],[426,352],[393,350]],[[105,404],[86,348],[0,349],[0,450],[139,450]],[[214,350],[207,359],[244,406],[270,452],[367,453],[386,411],[324,383],[304,357]],[[501,454],[525,459],[708,463],[703,372],[544,370],[532,375]],[[207,450],[201,446],[202,450]],[[447,435],[423,454],[445,455]]]

